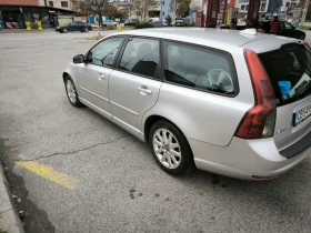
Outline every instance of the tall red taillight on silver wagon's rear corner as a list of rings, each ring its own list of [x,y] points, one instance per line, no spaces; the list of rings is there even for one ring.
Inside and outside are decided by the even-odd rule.
[[[254,92],[254,107],[242,119],[235,136],[242,139],[262,139],[273,135],[275,124],[275,97],[269,77],[252,50],[245,50]]]

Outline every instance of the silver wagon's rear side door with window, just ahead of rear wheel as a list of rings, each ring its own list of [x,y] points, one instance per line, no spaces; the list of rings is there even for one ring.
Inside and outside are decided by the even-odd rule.
[[[142,131],[142,116],[158,100],[162,85],[160,69],[160,41],[132,37],[117,70],[110,74],[113,119],[134,133]]]

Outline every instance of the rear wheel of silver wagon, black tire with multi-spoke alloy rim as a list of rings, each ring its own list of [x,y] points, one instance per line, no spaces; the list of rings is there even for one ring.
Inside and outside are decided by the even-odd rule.
[[[190,145],[182,132],[173,124],[167,121],[156,122],[149,132],[149,143],[157,163],[167,173],[183,175],[193,170],[194,162]]]

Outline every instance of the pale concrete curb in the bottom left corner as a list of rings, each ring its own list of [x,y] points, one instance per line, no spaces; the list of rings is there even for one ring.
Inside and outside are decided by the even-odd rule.
[[[0,231],[24,233],[0,161]]]

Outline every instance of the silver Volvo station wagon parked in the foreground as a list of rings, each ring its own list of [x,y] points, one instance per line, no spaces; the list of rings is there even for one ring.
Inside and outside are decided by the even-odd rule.
[[[298,39],[136,30],[76,55],[63,81],[72,105],[149,143],[173,175],[272,179],[311,153],[311,53]]]

